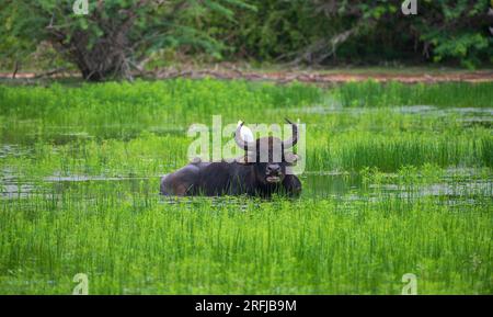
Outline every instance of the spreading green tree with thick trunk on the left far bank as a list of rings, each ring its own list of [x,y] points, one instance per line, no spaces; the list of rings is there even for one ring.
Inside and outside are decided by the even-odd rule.
[[[49,41],[87,80],[131,78],[130,69],[163,47],[191,45],[219,54],[222,44],[187,23],[214,11],[232,19],[229,7],[252,9],[242,0],[88,0],[87,14],[76,0],[8,0],[0,4],[1,55],[34,50]],[[78,1],[79,3],[84,1]]]

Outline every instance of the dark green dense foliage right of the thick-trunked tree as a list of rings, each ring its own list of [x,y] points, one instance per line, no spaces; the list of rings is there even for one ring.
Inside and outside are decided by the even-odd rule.
[[[486,0],[421,0],[404,15],[402,1],[251,0],[234,29],[219,32],[233,54],[307,64],[381,60],[491,63],[493,12]]]

